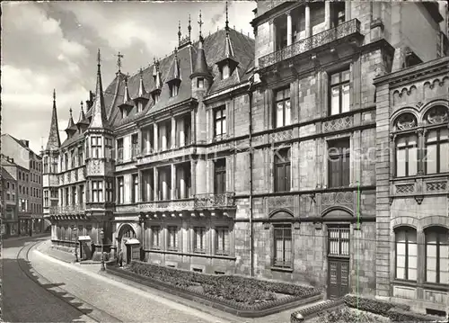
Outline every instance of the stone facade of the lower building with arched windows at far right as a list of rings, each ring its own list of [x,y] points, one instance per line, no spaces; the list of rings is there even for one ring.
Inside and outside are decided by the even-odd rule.
[[[415,310],[447,311],[447,281],[443,274],[447,267],[440,267],[439,280],[427,272],[428,257],[436,251],[428,251],[427,234],[431,229],[442,229],[442,237],[448,243],[448,171],[449,159],[426,154],[427,138],[432,130],[447,131],[449,126],[449,97],[447,84],[448,58],[439,58],[403,71],[382,76],[375,80],[377,87],[377,295],[393,301],[411,304]],[[407,114],[408,113],[408,114]],[[403,123],[403,117],[410,117]],[[402,174],[398,140],[409,136],[418,139],[418,155],[410,159],[409,174]],[[430,150],[429,150],[430,151]],[[447,151],[442,146],[441,154]],[[427,156],[427,159],[426,159]],[[436,158],[435,158],[436,157]],[[439,169],[433,171],[436,159]],[[409,229],[416,237],[417,265],[409,265],[417,274],[404,278],[397,273],[401,261],[396,259],[398,237],[401,229]],[[401,252],[401,251],[399,251]],[[447,258],[445,247],[441,257]],[[446,260],[447,261],[447,260]],[[447,279],[447,278],[446,278]]]

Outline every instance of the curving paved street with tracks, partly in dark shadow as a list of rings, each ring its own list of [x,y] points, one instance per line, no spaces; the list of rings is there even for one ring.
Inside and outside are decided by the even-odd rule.
[[[37,241],[36,239],[32,239]],[[27,246],[24,250],[22,247]],[[4,241],[4,320],[12,322],[224,322],[175,301],[143,292],[96,274],[84,266],[68,265],[31,248],[29,240]],[[21,259],[16,260],[20,253]],[[31,268],[30,265],[33,267]],[[21,267],[22,266],[22,267]],[[43,286],[27,274],[34,269]],[[20,288],[17,288],[20,286]],[[48,290],[70,301],[60,300]]]

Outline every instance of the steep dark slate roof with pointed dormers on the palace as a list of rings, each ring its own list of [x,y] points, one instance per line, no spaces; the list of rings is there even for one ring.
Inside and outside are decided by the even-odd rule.
[[[233,75],[225,80],[221,80],[220,73],[216,63],[225,58],[225,46],[226,46],[226,31],[225,29],[216,31],[204,39],[204,52],[206,54],[207,66],[209,71],[214,77],[214,83],[209,89],[209,94],[215,93],[233,85],[238,85],[248,79],[247,73],[254,65],[254,40],[250,37],[242,34],[239,31],[229,29],[229,38],[232,42],[234,59],[238,61],[239,65],[236,67]],[[159,97],[159,102],[154,104],[151,93],[155,89],[154,82],[154,63],[146,67],[142,71],[142,77],[144,81],[146,97],[149,98],[143,111],[136,113],[136,109],[133,108],[128,117],[122,119],[122,114],[119,109],[119,105],[123,103],[123,96],[125,94],[125,75],[118,73],[114,80],[108,85],[107,89],[103,92],[104,105],[106,109],[106,115],[109,116],[108,123],[112,128],[116,128],[125,124],[128,124],[136,119],[144,116],[145,114],[152,114],[154,112],[161,111],[166,107],[172,106],[177,103],[182,103],[189,100],[191,95],[191,80],[189,76],[193,73],[194,64],[197,58],[198,41],[192,43],[191,46],[185,46],[178,50],[178,62],[180,67],[180,89],[178,95],[170,97],[169,85],[166,83],[169,79],[172,79],[174,69],[174,51],[166,58],[159,60],[159,70],[161,72],[161,81],[163,83],[162,92]],[[238,75],[237,75],[238,74]],[[136,74],[128,77],[128,91],[131,94],[131,99],[135,99],[135,95],[138,92],[140,83],[139,71]],[[134,95],[134,96],[133,96]],[[95,98],[95,101],[97,98]],[[95,103],[93,104],[93,106]],[[92,116],[92,108],[86,112],[86,117]],[[62,147],[66,147],[76,140],[80,139],[83,135],[77,132],[71,139],[66,139],[62,144]]]

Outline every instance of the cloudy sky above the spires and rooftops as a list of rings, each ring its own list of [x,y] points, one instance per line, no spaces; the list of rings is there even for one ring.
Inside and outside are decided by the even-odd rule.
[[[153,58],[169,55],[178,44],[178,22],[198,40],[225,27],[223,1],[173,2],[2,2],[2,133],[30,140],[39,153],[47,145],[57,93],[61,142],[66,139],[69,109],[78,120],[80,102],[95,91],[96,55],[101,49],[103,89],[112,81],[117,54],[121,71],[136,74]],[[252,34],[254,1],[230,1],[229,25]],[[85,104],[84,104],[85,105]],[[84,108],[85,111],[85,108]]]

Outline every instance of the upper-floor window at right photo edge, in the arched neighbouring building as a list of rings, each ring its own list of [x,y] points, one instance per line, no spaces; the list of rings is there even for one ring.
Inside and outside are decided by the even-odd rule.
[[[449,172],[449,130],[429,130],[426,136],[426,173]]]

